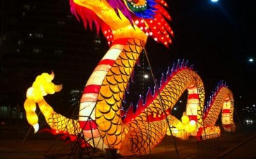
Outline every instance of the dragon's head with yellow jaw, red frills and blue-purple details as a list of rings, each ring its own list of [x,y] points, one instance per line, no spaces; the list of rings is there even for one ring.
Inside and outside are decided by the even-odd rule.
[[[119,38],[144,40],[151,36],[168,47],[173,31],[164,0],[70,0],[71,12],[82,19],[85,28],[95,23],[108,44]],[[80,16],[80,18],[79,18]]]

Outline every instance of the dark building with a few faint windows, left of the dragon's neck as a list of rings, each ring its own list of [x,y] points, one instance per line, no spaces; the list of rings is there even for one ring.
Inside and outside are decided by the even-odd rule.
[[[37,75],[55,73],[63,84],[49,102],[64,112],[70,92],[80,92],[107,48],[70,13],[67,0],[3,0],[0,32],[0,118],[24,119],[26,89]],[[75,91],[74,91],[75,90]],[[58,102],[57,102],[58,101]],[[64,108],[63,108],[64,107]],[[4,124],[4,123],[2,123]]]

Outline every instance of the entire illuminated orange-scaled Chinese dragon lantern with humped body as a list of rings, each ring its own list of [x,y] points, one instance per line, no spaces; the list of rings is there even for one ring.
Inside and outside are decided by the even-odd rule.
[[[183,129],[194,136],[215,133],[215,122],[222,111],[223,125],[233,131],[233,95],[219,84],[207,110],[204,110],[204,87],[201,78],[178,62],[161,79],[154,93],[148,92],[146,102],[139,100],[137,111],[132,106],[122,113],[122,101],[140,53],[149,36],[168,47],[173,31],[164,0],[70,0],[71,12],[82,19],[85,27],[95,23],[102,30],[110,49],[100,60],[87,80],[80,99],[79,119],[73,120],[57,114],[43,99],[61,89],[55,85],[53,72],[43,73],[28,89],[24,104],[28,123],[38,127],[36,104],[50,128],[76,136],[82,132],[87,143],[97,148],[117,148],[121,155],[142,155],[159,144],[171,126]],[[183,92],[188,91],[186,116],[179,121],[171,110]],[[195,126],[189,127],[193,121]],[[188,125],[186,125],[188,124]],[[202,127],[204,126],[204,130]]]

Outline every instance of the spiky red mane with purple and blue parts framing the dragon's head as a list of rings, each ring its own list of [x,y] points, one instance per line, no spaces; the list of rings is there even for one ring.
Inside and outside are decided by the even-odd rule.
[[[131,26],[138,26],[146,35],[151,36],[159,43],[163,43],[166,47],[171,44],[171,37],[174,36],[174,32],[171,30],[169,23],[171,21],[171,16],[164,7],[168,7],[166,1],[164,0],[147,0],[147,9],[140,12],[132,12],[124,4],[123,0],[106,0],[110,6],[114,9],[117,16],[119,16],[118,11],[121,11],[125,17],[130,21]],[[102,21],[93,11],[87,9],[83,6],[75,4],[73,0],[70,0],[70,11],[75,15],[75,17],[84,23],[85,28],[89,26],[92,30],[93,23],[95,23],[95,28],[97,34],[100,33],[100,28],[105,38],[108,40],[108,44],[111,45],[113,41],[113,34],[110,26]],[[166,21],[167,20],[167,21]]]

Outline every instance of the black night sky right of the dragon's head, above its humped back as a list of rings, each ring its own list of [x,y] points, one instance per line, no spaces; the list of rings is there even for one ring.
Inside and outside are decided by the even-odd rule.
[[[169,13],[173,44],[166,49],[149,40],[146,48],[155,73],[185,59],[203,80],[206,100],[224,80],[235,101],[242,97],[245,104],[256,104],[255,5],[237,0],[215,4],[210,0],[171,0]],[[254,62],[249,62],[250,57]]]

